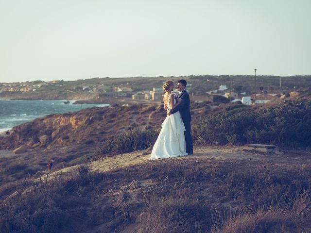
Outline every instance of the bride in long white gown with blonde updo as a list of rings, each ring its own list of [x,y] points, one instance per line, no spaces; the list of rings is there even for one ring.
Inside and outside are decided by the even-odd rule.
[[[176,103],[174,95],[171,93],[173,89],[173,81],[167,81],[164,83],[163,90],[165,91],[165,94],[163,100],[164,109],[167,111],[174,109],[181,102],[181,100],[179,100]],[[185,130],[186,129],[179,112],[166,116],[149,159],[164,159],[187,155],[184,134]]]

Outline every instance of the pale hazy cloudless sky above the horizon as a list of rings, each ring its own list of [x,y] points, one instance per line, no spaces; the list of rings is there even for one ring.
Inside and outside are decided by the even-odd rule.
[[[0,82],[311,75],[311,0],[0,0]]]

